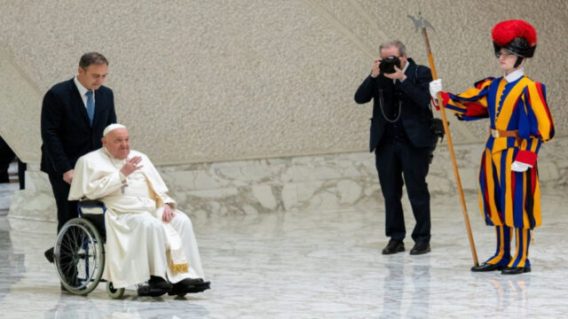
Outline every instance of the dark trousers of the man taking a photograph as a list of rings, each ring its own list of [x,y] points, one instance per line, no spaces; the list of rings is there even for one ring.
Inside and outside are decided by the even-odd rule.
[[[416,243],[430,243],[430,193],[426,183],[429,157],[430,148],[415,147],[407,137],[384,136],[375,150],[385,206],[385,231],[391,239],[402,241],[406,236],[401,203],[402,186],[406,182],[416,221],[412,238]]]

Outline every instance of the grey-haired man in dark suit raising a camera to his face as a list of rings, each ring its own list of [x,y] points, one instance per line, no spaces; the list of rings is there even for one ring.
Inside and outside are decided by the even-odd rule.
[[[430,252],[430,193],[426,175],[436,137],[430,132],[430,69],[417,66],[407,58],[399,41],[379,47],[371,74],[359,86],[355,101],[374,101],[371,119],[370,152],[383,191],[386,236],[389,244],[383,254],[405,251],[406,236],[402,211],[402,186],[410,199],[416,224],[412,232],[414,247],[410,254]],[[404,177],[404,179],[403,179]]]

